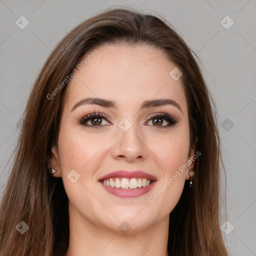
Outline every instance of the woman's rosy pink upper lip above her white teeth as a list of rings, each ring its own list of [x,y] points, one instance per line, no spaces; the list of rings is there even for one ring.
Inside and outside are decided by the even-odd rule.
[[[133,170],[133,171],[128,171],[128,170],[116,170],[112,171],[110,173],[107,173],[106,175],[102,176],[99,178],[101,179],[107,179],[107,178],[147,178],[151,180],[156,180],[156,177],[148,174],[144,171],[141,170]]]

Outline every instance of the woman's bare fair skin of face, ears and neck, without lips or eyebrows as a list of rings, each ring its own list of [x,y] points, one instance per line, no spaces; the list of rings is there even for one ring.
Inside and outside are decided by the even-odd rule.
[[[189,153],[182,83],[169,75],[175,64],[159,49],[104,45],[98,50],[66,88],[58,142],[51,149],[50,164],[57,169],[54,176],[63,179],[69,203],[66,256],[166,256],[169,213],[180,198],[185,179],[190,178],[188,171],[194,162],[154,202],[148,198],[194,154],[194,150]],[[71,111],[85,97],[115,100],[118,107],[85,104]],[[144,100],[161,98],[175,100],[182,112],[174,105],[139,110]],[[79,117],[93,111],[111,121],[102,118],[97,129],[79,123]],[[178,122],[157,129],[148,117],[166,111]],[[118,126],[123,118],[131,123],[127,131]],[[168,124],[160,120],[162,126]],[[86,123],[93,125],[91,120]],[[72,169],[80,175],[74,183],[67,178]],[[102,175],[120,169],[142,170],[157,181],[146,194],[120,198],[108,193],[98,181]],[[126,234],[118,228],[123,221],[131,227]]]

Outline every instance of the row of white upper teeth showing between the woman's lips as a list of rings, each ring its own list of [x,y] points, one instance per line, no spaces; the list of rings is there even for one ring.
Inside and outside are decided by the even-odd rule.
[[[103,184],[106,186],[122,188],[122,189],[134,189],[137,187],[145,187],[150,184],[151,180],[147,178],[107,178],[103,179]]]

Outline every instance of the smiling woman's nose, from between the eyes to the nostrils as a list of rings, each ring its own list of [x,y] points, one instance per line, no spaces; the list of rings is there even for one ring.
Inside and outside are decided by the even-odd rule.
[[[111,149],[112,157],[125,159],[127,162],[141,161],[148,154],[145,136],[136,125],[131,125],[126,131],[117,127]]]

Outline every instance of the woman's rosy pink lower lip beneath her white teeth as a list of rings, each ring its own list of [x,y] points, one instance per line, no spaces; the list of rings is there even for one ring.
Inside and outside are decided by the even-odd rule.
[[[149,185],[145,187],[141,186],[133,189],[121,189],[121,188],[106,186],[102,182],[100,183],[107,192],[114,194],[115,196],[118,196],[118,197],[128,198],[128,197],[138,197],[142,194],[149,192],[152,189],[155,182],[156,181],[154,180],[153,182],[151,182]]]

